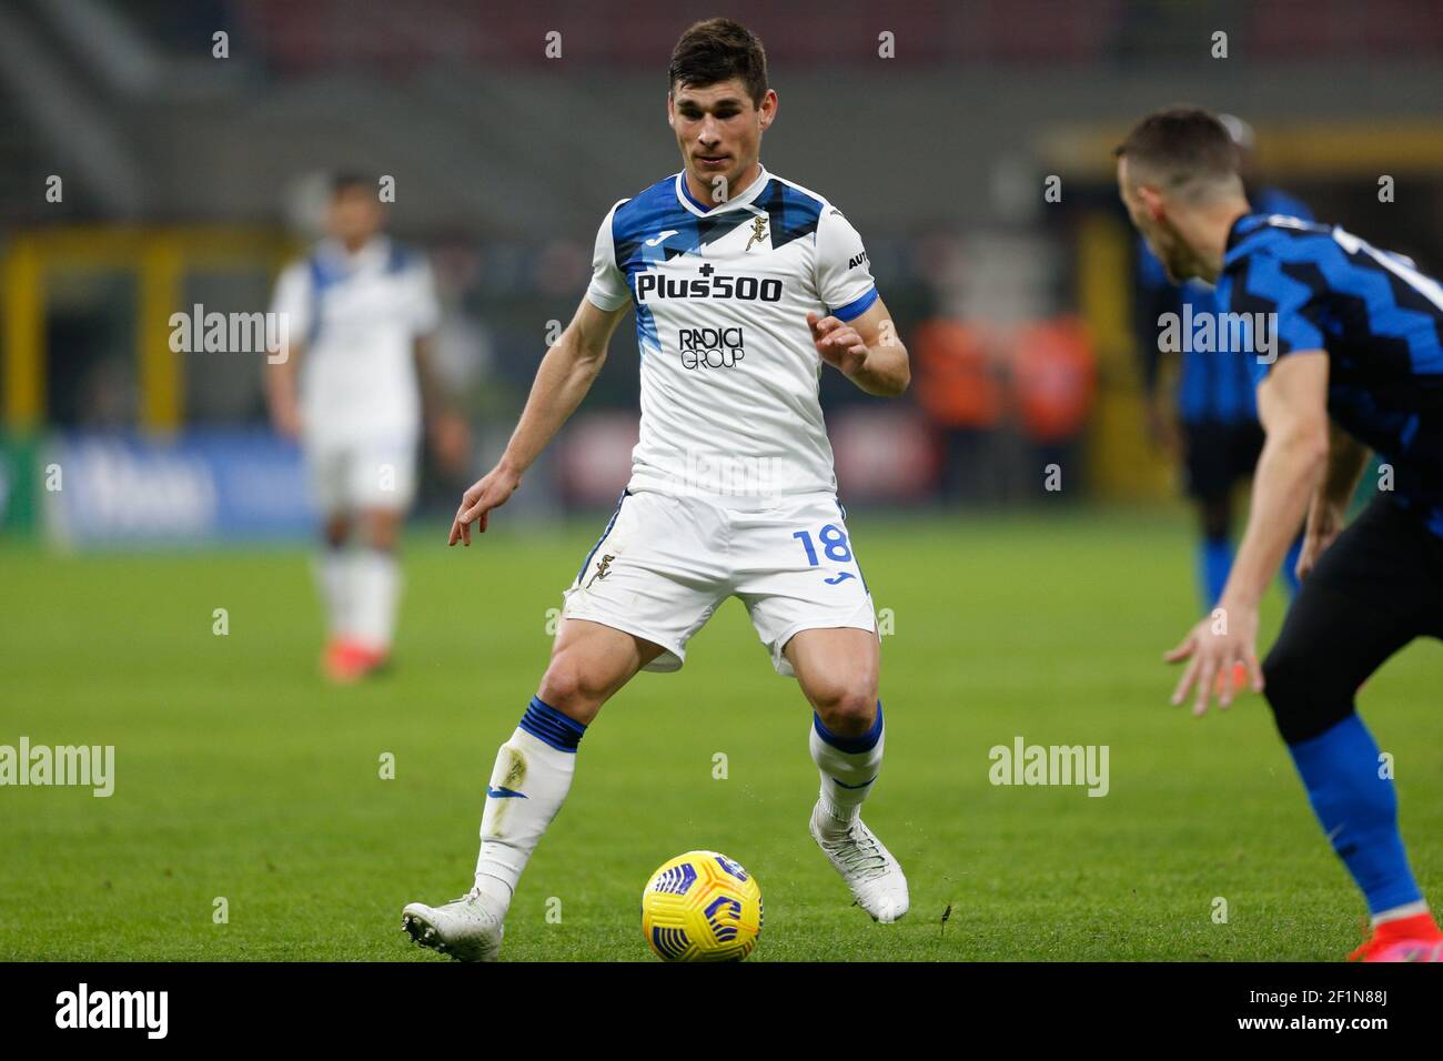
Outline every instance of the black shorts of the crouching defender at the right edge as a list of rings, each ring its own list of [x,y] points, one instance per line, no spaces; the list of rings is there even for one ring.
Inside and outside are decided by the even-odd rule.
[[[1443,538],[1378,495],[1303,579],[1263,663],[1283,739],[1293,745],[1342,722],[1358,686],[1424,635],[1443,638]]]

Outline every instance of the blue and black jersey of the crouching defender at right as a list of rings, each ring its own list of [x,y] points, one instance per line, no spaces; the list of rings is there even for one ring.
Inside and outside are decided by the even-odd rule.
[[[1228,232],[1218,305],[1267,315],[1274,351],[1244,358],[1257,384],[1276,358],[1328,351],[1329,414],[1392,465],[1394,499],[1443,536],[1439,281],[1342,228],[1250,214]]]

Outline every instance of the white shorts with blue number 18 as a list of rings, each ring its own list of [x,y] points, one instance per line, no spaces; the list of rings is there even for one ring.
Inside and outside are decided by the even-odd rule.
[[[622,495],[566,590],[561,615],[633,634],[665,651],[646,670],[680,670],[687,641],[729,596],[746,605],[778,674],[782,648],[804,629],[876,632],[835,494],[732,508],[727,498],[654,491]]]

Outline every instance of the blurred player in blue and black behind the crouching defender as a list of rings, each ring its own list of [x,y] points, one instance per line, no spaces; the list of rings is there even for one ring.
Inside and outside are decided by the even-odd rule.
[[[1218,121],[1228,130],[1238,149],[1240,172],[1248,202],[1258,214],[1286,214],[1312,221],[1313,214],[1299,199],[1277,188],[1260,183],[1253,127],[1231,114]],[[1196,277],[1175,284],[1163,271],[1147,241],[1137,241],[1139,294],[1136,335],[1143,359],[1143,390],[1147,401],[1147,429],[1153,443],[1170,452],[1182,449],[1188,497],[1198,505],[1198,586],[1202,606],[1212,608],[1222,596],[1232,567],[1232,492],[1253,473],[1263,452],[1263,427],[1258,426],[1253,378],[1242,358],[1234,351],[1195,349],[1185,344],[1176,396],[1162,388],[1159,319],[1176,313],[1186,320],[1216,315],[1218,299],[1212,284]],[[1180,440],[1172,429],[1175,404]],[[1283,562],[1281,575],[1290,592],[1297,592],[1297,556],[1302,537],[1296,538]]]

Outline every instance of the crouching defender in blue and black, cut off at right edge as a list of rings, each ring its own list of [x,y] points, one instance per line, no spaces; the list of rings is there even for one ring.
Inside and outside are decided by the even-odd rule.
[[[1253,505],[1219,599],[1167,660],[1173,703],[1245,665],[1266,687],[1317,820],[1348,866],[1372,935],[1354,959],[1443,961],[1443,933],[1398,831],[1392,772],[1358,717],[1358,686],[1420,635],[1443,638],[1443,287],[1342,228],[1257,214],[1234,144],[1201,110],[1144,118],[1118,149],[1118,189],[1170,279],[1218,286],[1253,316],[1238,357],[1267,433]],[[1343,528],[1374,447],[1394,482]],[[1257,663],[1258,601],[1307,517],[1297,598]],[[1222,684],[1219,703],[1232,699]]]

